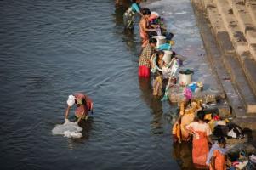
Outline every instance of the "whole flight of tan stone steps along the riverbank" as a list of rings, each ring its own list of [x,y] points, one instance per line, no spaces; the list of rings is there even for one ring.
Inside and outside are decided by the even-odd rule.
[[[256,129],[256,1],[191,0],[213,71],[237,122]]]

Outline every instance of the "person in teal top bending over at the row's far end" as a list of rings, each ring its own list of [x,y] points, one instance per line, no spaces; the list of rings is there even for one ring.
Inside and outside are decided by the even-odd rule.
[[[132,6],[128,8],[127,11],[123,14],[123,24],[125,29],[134,29],[134,15],[136,13],[140,14],[140,16],[143,16],[140,12],[140,2],[141,0],[133,0]]]

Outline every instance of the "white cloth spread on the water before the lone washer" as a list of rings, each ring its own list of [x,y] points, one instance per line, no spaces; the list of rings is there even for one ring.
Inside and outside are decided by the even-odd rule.
[[[79,127],[76,122],[66,121],[64,124],[56,125],[52,130],[54,135],[64,135],[67,138],[82,138],[82,127]]]

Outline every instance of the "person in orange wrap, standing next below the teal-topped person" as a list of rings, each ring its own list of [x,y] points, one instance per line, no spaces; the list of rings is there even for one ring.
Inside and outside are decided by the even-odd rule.
[[[151,10],[149,8],[143,8],[142,9],[143,17],[141,17],[139,21],[139,35],[141,37],[141,47],[145,48],[145,45],[149,41],[149,31],[157,31],[156,29],[151,29],[149,24],[149,18],[151,16]]]

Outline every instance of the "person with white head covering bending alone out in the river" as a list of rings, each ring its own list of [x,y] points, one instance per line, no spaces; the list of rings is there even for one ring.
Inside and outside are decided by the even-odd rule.
[[[88,98],[87,95],[77,93],[74,95],[69,95],[67,101],[67,108],[65,111],[65,122],[68,121],[68,115],[71,110],[71,107],[76,104],[77,109],[75,111],[75,116],[77,117],[77,122],[80,122],[81,119],[87,120],[88,119],[88,111],[93,112],[93,101],[92,99]]]

